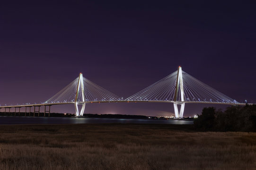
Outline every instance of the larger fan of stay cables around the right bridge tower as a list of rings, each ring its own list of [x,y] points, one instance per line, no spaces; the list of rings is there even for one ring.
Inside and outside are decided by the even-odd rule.
[[[193,76],[182,71],[185,102],[224,102],[238,103],[225,94],[213,89],[209,85],[197,80]],[[177,81],[177,71],[164,77],[158,82],[128,97],[128,101],[174,101]],[[178,84],[180,88],[180,82]],[[178,90],[177,101],[181,101],[181,93]]]

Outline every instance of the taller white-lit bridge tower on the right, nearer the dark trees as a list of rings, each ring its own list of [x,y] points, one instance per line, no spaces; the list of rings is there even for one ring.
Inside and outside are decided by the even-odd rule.
[[[177,101],[178,92],[180,90],[180,101]],[[178,111],[178,106],[180,106],[180,111]],[[185,109],[185,100],[184,100],[184,88],[183,88],[183,78],[182,78],[182,69],[179,66],[177,71],[177,79],[176,79],[176,87],[175,87],[175,94],[174,94],[174,112],[176,118],[183,118],[183,112]]]

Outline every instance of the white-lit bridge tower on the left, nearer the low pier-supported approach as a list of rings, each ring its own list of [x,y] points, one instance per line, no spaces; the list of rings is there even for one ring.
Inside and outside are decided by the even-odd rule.
[[[79,93],[81,93],[82,98],[81,101],[78,101]],[[76,116],[83,116],[84,109],[85,109],[85,97],[84,97],[84,82],[83,82],[83,74],[79,74],[78,84],[77,84],[77,91],[76,91],[76,97],[75,97],[75,110],[76,110]],[[82,105],[82,108],[79,112],[78,105]]]

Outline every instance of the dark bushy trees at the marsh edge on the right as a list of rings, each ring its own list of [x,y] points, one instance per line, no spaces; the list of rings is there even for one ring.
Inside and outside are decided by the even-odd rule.
[[[231,106],[224,111],[203,108],[194,127],[203,131],[256,131],[256,105]]]

